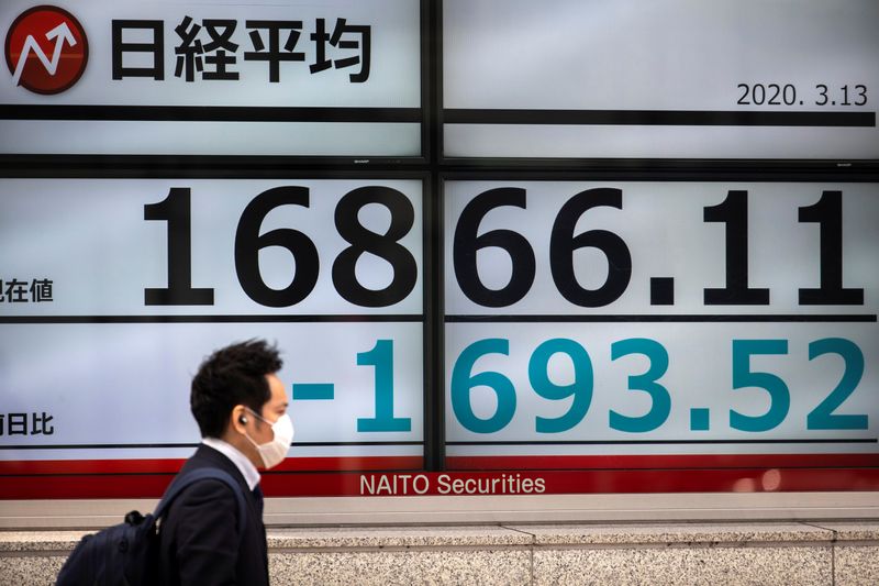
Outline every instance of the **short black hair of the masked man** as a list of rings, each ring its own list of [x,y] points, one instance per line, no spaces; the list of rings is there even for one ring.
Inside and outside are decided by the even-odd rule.
[[[189,407],[202,438],[220,438],[236,405],[260,413],[271,391],[266,375],[281,369],[278,349],[265,340],[248,340],[211,354],[192,377]]]

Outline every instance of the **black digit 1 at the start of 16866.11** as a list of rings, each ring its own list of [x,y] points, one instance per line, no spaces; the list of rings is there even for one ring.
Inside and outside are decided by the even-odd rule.
[[[192,288],[192,228],[188,187],[171,187],[168,197],[144,206],[144,220],[168,222],[168,287],[144,289],[147,306],[212,306],[213,289]]]

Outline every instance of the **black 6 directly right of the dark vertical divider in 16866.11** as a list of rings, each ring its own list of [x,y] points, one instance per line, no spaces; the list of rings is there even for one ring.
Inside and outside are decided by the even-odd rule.
[[[477,236],[479,224],[494,208],[514,206],[525,209],[525,190],[518,187],[489,189],[475,197],[458,219],[452,248],[458,286],[470,301],[482,307],[507,307],[522,299],[534,283],[534,251],[522,234],[512,230],[492,230]],[[510,254],[512,273],[502,289],[489,289],[479,279],[476,262],[480,248],[497,246]]]

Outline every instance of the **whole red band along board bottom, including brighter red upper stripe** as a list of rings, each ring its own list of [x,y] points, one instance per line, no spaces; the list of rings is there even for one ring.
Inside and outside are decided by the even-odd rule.
[[[0,498],[156,498],[183,460],[0,462]],[[263,474],[266,495],[411,496],[879,490],[877,454],[293,457]]]

